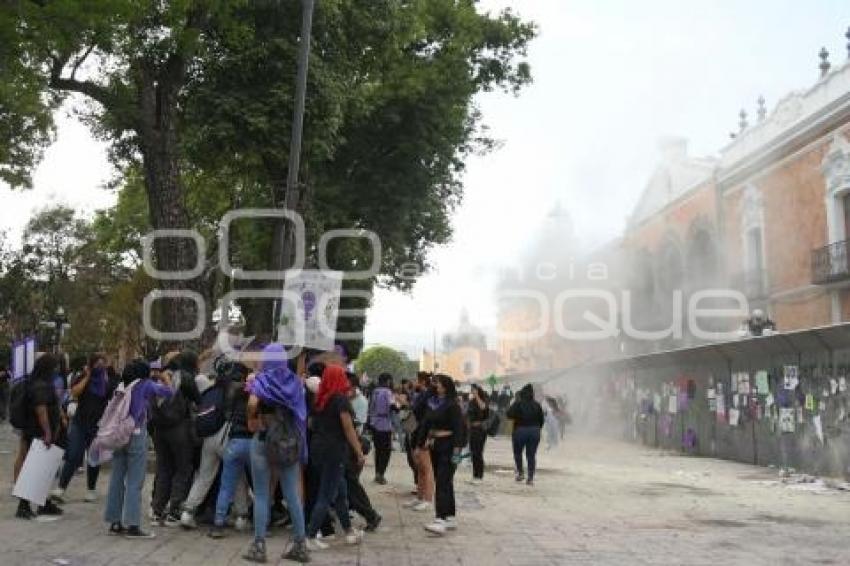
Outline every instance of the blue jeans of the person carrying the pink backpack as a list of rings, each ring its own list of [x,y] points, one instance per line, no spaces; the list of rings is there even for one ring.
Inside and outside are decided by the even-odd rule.
[[[121,523],[125,527],[141,525],[147,459],[148,434],[144,428],[134,432],[127,446],[113,454],[104,514],[107,523]]]

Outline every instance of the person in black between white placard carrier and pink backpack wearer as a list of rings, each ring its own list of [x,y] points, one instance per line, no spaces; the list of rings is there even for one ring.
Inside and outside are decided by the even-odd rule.
[[[71,398],[75,400],[76,409],[70,416],[68,427],[68,450],[59,473],[59,486],[53,491],[53,496],[60,500],[65,496],[65,490],[71,483],[74,473],[82,465],[86,450],[97,436],[97,423],[106,410],[106,404],[118,387],[117,378],[110,379],[106,369],[106,359],[103,355],[95,354],[88,360],[88,365],[74,374],[71,378]],[[72,405],[73,406],[73,405]],[[86,502],[97,500],[97,478],[100,466],[86,465]]]

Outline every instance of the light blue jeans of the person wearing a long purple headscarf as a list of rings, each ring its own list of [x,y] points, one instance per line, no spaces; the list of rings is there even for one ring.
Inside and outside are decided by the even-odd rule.
[[[295,542],[304,540],[304,509],[298,495],[301,482],[301,464],[295,463],[288,468],[277,470],[280,476],[280,489],[286,500],[286,508],[292,519],[292,539]],[[254,484],[254,539],[265,540],[269,527],[271,511],[271,468],[266,458],[266,443],[255,434],[251,440],[251,480]],[[218,506],[216,506],[216,516]]]

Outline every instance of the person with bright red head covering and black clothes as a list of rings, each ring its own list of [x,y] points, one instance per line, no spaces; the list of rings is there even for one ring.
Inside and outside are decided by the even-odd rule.
[[[331,505],[345,531],[348,544],[359,544],[361,533],[355,532],[348,514],[348,490],[345,483],[345,460],[350,449],[356,465],[366,461],[360,438],[354,429],[354,410],[348,399],[348,378],[345,369],[329,365],[322,374],[316,395],[315,429],[311,450],[320,470],[319,493],[307,525],[307,545],[310,550],[324,550],[328,545],[317,538]]]

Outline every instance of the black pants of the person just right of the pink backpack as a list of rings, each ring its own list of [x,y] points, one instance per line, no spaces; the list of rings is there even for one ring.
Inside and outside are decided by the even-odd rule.
[[[153,510],[157,515],[166,511],[180,515],[183,501],[192,487],[192,457],[194,445],[189,435],[189,423],[158,429],[154,438],[156,451],[156,485]],[[166,509],[168,506],[168,509]]]

